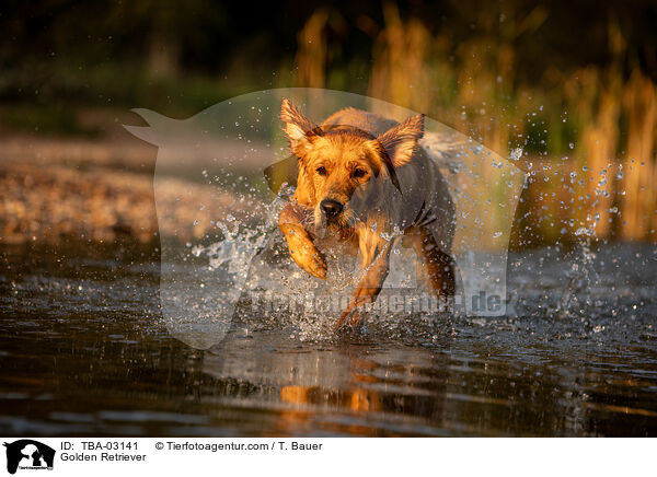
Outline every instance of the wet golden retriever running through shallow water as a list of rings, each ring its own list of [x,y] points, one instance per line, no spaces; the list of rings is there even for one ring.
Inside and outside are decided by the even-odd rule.
[[[364,276],[336,328],[356,326],[362,305],[377,299],[397,238],[415,249],[430,290],[453,296],[456,213],[437,164],[418,143],[424,115],[400,124],[347,108],[318,126],[286,98],[280,119],[298,159],[297,188],[278,218],[292,259],[326,279],[319,241],[360,253]]]

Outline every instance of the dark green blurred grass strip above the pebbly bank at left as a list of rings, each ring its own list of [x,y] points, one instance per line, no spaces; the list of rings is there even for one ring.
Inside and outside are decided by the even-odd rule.
[[[257,88],[255,82],[242,79],[221,81],[203,74],[162,77],[140,65],[106,63],[82,69],[67,61],[56,62],[47,72],[3,72],[0,126],[8,131],[94,137],[100,130],[85,124],[80,114],[84,109],[146,107],[184,118]]]

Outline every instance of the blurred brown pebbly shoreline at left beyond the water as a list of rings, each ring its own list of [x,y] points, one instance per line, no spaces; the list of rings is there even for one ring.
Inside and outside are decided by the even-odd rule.
[[[159,206],[169,214],[158,223],[155,156],[157,149],[141,141],[5,140],[0,150],[0,244],[150,242],[158,234],[186,241],[206,234],[212,218],[235,213],[234,197],[227,193],[160,177]],[[180,200],[183,194],[186,200]],[[199,213],[198,202],[212,214]]]

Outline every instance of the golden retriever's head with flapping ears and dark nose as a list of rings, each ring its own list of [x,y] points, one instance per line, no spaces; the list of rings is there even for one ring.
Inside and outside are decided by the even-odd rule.
[[[314,209],[320,229],[354,226],[362,209],[381,207],[380,185],[399,188],[395,171],[413,160],[424,133],[424,115],[379,137],[348,125],[320,127],[288,100],[283,100],[280,119],[299,158],[297,199]]]

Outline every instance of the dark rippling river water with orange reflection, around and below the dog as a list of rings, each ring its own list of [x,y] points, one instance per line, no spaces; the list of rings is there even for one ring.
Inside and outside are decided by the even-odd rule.
[[[505,317],[205,351],[164,325],[157,248],[0,253],[0,434],[657,435],[655,246],[512,253]]]

